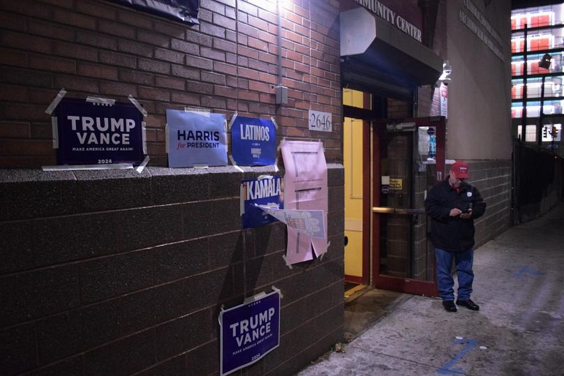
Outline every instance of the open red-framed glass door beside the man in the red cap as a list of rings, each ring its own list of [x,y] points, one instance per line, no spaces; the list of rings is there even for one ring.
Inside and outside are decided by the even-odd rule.
[[[424,198],[444,179],[443,117],[376,121],[373,132],[373,285],[437,296]]]

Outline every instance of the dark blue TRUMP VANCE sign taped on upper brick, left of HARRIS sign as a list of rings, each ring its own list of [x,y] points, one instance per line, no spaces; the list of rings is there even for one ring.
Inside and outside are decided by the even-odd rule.
[[[63,98],[57,117],[59,165],[140,164],[143,115],[133,104],[100,105]]]

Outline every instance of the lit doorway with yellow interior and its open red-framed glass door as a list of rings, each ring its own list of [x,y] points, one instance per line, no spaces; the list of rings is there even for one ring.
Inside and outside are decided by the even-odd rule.
[[[387,98],[351,89],[343,107],[346,287],[436,296],[423,208],[444,177],[444,118],[386,119]]]

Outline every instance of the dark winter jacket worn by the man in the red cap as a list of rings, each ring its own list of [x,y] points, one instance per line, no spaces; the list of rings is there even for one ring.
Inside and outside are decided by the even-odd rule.
[[[472,218],[451,217],[450,209],[472,208]],[[450,186],[448,177],[431,188],[425,200],[425,212],[431,217],[431,241],[435,248],[460,252],[474,246],[474,219],[486,211],[478,190],[463,181],[459,193]]]

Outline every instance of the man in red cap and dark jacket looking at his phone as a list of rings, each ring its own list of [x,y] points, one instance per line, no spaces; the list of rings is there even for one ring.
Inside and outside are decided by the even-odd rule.
[[[431,188],[425,211],[431,217],[431,241],[437,260],[437,283],[443,307],[457,312],[454,305],[452,260],[457,266],[458,306],[479,310],[470,299],[474,272],[474,219],[486,211],[486,203],[475,186],[466,182],[468,165],[459,160],[450,167],[449,176]]]

